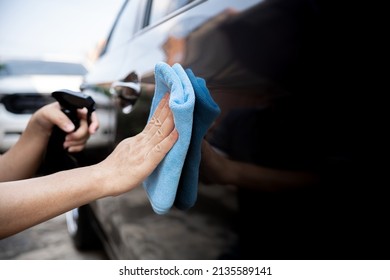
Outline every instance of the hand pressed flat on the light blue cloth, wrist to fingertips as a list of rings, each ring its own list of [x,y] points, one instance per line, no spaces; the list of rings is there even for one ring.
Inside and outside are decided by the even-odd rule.
[[[164,159],[178,137],[169,108],[169,95],[166,94],[144,130],[122,140],[105,160],[96,165],[106,195],[119,195],[141,184]]]

